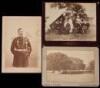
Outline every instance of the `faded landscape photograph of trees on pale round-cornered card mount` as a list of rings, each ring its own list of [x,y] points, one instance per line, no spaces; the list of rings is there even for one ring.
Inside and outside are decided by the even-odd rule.
[[[97,47],[44,47],[43,86],[99,86]]]

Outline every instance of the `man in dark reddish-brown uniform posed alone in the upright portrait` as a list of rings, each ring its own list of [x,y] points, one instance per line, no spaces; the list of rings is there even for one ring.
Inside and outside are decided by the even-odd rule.
[[[13,66],[14,67],[28,67],[29,56],[31,53],[31,44],[27,37],[23,36],[22,28],[18,29],[18,37],[16,37],[11,45],[11,52],[14,56]]]

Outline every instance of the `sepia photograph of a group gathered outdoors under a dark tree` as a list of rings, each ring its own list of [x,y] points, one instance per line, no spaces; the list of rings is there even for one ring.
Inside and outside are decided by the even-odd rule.
[[[96,3],[45,2],[46,41],[96,41]]]

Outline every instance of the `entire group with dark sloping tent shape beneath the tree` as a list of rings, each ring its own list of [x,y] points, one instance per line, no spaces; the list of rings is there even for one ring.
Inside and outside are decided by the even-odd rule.
[[[50,25],[50,28],[59,34],[80,33],[88,32],[90,27],[86,19],[81,19],[79,15],[61,15],[55,22]]]

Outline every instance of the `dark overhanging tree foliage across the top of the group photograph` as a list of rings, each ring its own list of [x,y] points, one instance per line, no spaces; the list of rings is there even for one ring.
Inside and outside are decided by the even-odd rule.
[[[85,13],[85,8],[81,5],[81,4],[78,4],[78,3],[52,3],[51,4],[51,8],[54,8],[54,7],[57,7],[58,9],[63,9],[63,8],[66,8],[66,12],[68,10],[74,12],[73,16],[76,14],[76,15],[79,15],[80,18],[86,18],[87,17],[87,14]]]

